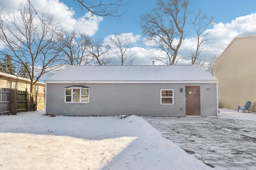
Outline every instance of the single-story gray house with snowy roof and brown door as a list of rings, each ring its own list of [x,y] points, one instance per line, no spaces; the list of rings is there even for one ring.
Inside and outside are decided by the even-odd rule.
[[[218,80],[198,65],[71,65],[45,83],[46,114],[218,115]]]

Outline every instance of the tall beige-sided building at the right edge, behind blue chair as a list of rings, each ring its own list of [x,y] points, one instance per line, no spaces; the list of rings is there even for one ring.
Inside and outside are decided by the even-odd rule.
[[[252,102],[256,111],[256,35],[236,37],[216,59],[219,104],[237,109]]]

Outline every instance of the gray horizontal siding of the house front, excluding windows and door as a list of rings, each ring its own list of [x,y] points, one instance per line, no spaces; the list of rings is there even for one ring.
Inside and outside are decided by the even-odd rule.
[[[216,84],[82,84],[90,87],[87,104],[64,103],[64,88],[73,84],[47,84],[46,113],[56,115],[186,116],[188,85],[200,85],[201,116],[217,115]],[[183,88],[183,92],[180,92]],[[205,91],[212,88],[212,91]],[[160,104],[160,90],[174,90],[174,104]],[[208,101],[206,101],[208,100]],[[208,105],[208,106],[205,106]],[[180,109],[182,108],[182,109]]]

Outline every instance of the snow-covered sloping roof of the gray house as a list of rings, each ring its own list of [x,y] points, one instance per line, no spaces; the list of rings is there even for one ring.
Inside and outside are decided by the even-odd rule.
[[[76,66],[46,78],[45,83],[179,83],[218,80],[198,65]]]

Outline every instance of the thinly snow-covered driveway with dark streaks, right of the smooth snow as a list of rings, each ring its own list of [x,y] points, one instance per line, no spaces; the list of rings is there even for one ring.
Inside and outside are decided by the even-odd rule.
[[[256,169],[256,113],[219,117],[144,117],[166,138],[216,169]]]

